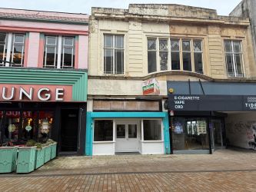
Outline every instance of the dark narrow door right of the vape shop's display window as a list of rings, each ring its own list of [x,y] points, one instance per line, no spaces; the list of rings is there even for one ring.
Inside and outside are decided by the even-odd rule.
[[[211,129],[212,149],[214,151],[224,148],[224,126],[221,120],[213,120]]]

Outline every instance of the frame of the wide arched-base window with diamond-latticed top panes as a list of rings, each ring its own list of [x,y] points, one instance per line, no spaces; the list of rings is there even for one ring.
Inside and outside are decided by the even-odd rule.
[[[202,55],[202,73],[204,74],[204,39],[203,38],[176,38],[176,37],[155,37],[155,36],[148,36],[147,37],[147,53],[148,53],[148,39],[156,39],[156,62],[157,62],[157,71],[148,73],[148,74],[153,74],[153,73],[159,73],[159,72],[165,72],[165,71],[185,71],[183,68],[183,52],[189,52],[191,55],[191,71],[193,73],[198,73],[195,71],[194,68],[194,53],[201,53]],[[160,48],[159,48],[159,40],[161,39],[168,39],[168,68],[165,71],[161,71],[161,66],[160,66]],[[179,43],[179,51],[171,51],[171,40],[178,40]],[[190,41],[190,51],[183,51],[182,49],[182,41]],[[201,51],[194,51],[194,41],[201,41]],[[151,51],[151,50],[149,50]],[[177,70],[172,70],[171,69],[171,52],[178,52],[179,57],[180,57],[180,69]],[[148,68],[148,56],[147,56],[147,68]]]

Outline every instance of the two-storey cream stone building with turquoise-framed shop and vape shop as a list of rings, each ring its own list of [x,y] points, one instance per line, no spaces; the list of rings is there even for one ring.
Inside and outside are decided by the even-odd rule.
[[[256,86],[248,18],[131,4],[92,8],[89,28],[86,154],[211,153],[231,142],[224,122],[239,111],[171,108],[168,95],[256,95],[244,92]]]

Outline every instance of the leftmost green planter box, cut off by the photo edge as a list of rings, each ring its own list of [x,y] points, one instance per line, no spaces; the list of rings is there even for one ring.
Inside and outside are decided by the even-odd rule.
[[[16,170],[18,147],[0,147],[0,173]]]

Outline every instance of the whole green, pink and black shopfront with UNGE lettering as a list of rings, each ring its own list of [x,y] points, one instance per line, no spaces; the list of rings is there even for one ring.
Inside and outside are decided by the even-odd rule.
[[[0,68],[0,144],[51,138],[85,154],[87,71]]]

